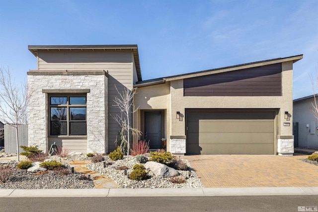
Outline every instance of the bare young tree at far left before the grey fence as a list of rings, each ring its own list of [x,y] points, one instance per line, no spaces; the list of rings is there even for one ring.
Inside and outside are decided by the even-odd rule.
[[[18,126],[27,124],[29,97],[27,85],[17,85],[10,70],[0,68],[0,120],[15,128],[17,161],[20,160]]]

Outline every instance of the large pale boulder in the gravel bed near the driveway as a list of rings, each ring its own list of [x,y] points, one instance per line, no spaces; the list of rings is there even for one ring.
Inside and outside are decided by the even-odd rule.
[[[145,164],[145,168],[148,171],[152,171],[158,177],[173,177],[179,175],[179,172],[177,172],[174,168],[170,168],[162,163],[154,161],[148,161]]]

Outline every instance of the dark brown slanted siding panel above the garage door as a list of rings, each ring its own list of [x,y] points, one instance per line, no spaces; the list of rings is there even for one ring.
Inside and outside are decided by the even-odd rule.
[[[281,96],[281,72],[279,63],[187,78],[184,96]]]

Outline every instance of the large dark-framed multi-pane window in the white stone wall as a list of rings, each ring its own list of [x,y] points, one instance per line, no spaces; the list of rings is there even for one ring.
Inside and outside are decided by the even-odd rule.
[[[50,135],[86,135],[86,95],[51,95]]]

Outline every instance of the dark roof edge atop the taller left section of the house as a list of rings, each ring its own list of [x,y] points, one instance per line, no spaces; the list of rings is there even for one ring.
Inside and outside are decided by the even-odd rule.
[[[138,81],[142,81],[142,74],[139,61],[138,45],[29,45],[28,50],[37,57],[39,50],[122,50],[130,49],[133,51],[134,62],[137,71]]]

